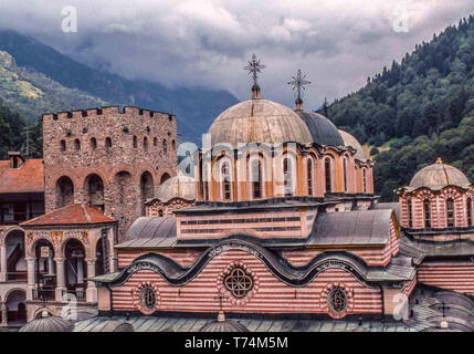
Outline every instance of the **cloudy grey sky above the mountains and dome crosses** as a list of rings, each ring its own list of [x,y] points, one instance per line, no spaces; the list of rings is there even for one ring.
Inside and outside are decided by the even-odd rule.
[[[77,32],[63,31],[67,6]],[[316,108],[470,13],[472,0],[1,0],[0,28],[128,79],[240,100],[250,96],[242,67],[255,52],[265,98],[293,105],[286,82],[302,69],[313,82],[305,106]]]

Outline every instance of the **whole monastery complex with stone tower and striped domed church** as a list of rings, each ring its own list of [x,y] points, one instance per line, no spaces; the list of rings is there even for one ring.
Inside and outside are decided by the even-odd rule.
[[[126,331],[107,319],[172,315],[246,331],[249,319],[396,321],[400,303],[409,322],[423,291],[472,301],[466,176],[426,162],[399,202],[379,202],[377,165],[304,110],[301,71],[292,110],[264,98],[255,56],[245,69],[251,98],[214,119],[186,171],[173,115],[43,115],[43,159],[0,162],[1,326]]]

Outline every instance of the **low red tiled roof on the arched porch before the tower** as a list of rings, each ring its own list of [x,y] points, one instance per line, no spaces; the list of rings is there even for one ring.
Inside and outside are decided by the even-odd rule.
[[[41,217],[24,221],[21,226],[52,226],[52,225],[84,225],[114,222],[101,209],[83,204],[71,204],[55,209]]]

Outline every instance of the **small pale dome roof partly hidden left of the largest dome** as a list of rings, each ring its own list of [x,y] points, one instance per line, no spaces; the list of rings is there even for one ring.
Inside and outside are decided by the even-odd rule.
[[[193,201],[196,199],[196,179],[185,175],[171,177],[158,187],[157,196],[151,200],[158,199],[167,202],[175,198]]]

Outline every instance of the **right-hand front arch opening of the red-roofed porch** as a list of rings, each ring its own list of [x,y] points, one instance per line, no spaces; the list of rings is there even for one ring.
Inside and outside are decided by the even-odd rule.
[[[85,263],[85,248],[81,241],[69,239],[64,247],[65,278],[69,293],[75,294],[77,301],[85,301],[87,282],[87,267]]]

